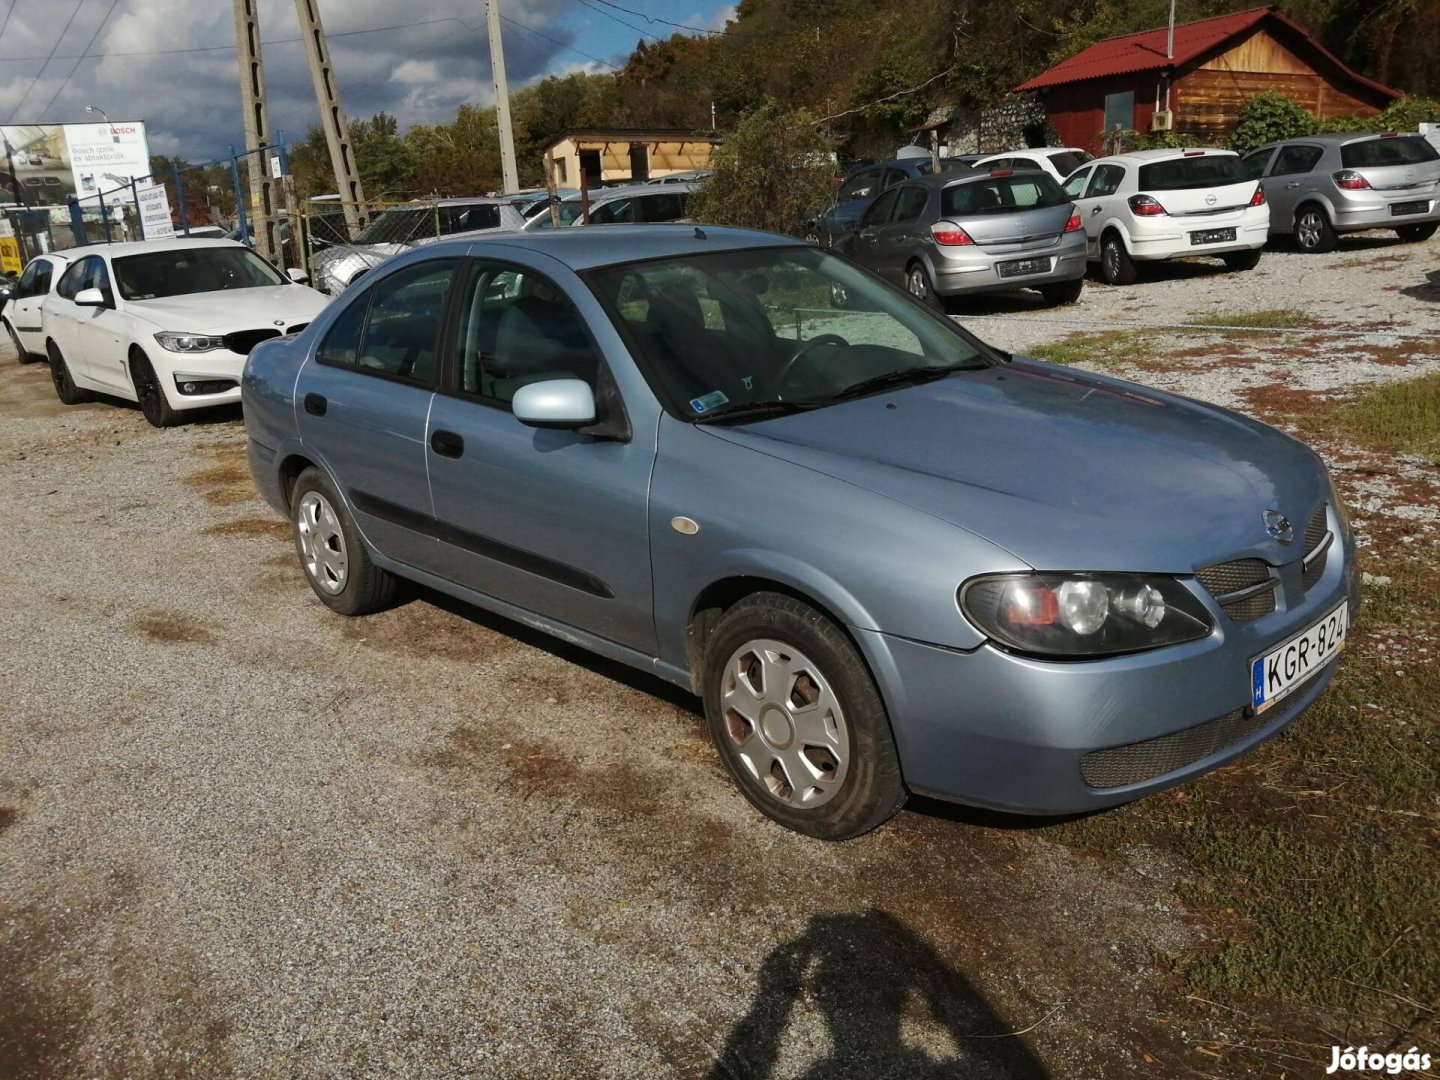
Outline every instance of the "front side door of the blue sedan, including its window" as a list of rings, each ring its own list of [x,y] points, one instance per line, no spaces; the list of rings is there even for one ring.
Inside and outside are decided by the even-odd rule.
[[[510,412],[521,386],[583,379],[598,389],[602,420],[624,416],[583,317],[544,276],[475,261],[459,307],[454,370],[429,426],[441,573],[655,655],[654,431],[544,431]]]

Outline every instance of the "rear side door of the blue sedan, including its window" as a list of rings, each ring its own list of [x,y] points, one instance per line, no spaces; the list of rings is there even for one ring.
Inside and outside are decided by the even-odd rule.
[[[433,567],[425,422],[458,259],[428,259],[347,294],[295,386],[300,436],[370,544]]]

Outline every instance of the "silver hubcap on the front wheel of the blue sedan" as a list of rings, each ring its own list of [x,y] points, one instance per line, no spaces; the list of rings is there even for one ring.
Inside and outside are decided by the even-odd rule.
[[[829,802],[850,770],[850,727],[829,681],[779,641],[742,645],[720,688],[726,737],[746,772],[786,806]]]

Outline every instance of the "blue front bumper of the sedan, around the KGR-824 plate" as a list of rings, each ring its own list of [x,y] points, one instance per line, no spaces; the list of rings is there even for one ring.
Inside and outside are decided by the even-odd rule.
[[[1339,547],[1345,557],[1329,562],[1300,603],[1253,624],[1230,622],[1215,609],[1217,629],[1204,641],[1130,657],[1051,662],[989,644],[960,652],[854,629],[890,711],[906,785],[991,809],[1079,814],[1182,783],[1246,753],[1299,717],[1335,674],[1332,661],[1272,710],[1248,711],[1254,657],[1342,602],[1354,625],[1354,552],[1344,541]],[[1211,727],[1192,730],[1202,724]],[[1087,772],[1094,776],[1087,755],[1176,733],[1188,734],[1169,743],[1201,747],[1202,756],[1181,753],[1176,768],[1123,786],[1087,783]]]

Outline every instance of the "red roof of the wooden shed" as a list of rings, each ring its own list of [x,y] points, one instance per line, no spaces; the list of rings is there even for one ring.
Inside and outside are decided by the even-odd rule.
[[[1076,53],[1068,60],[1061,60],[1050,71],[1041,72],[1030,82],[1024,82],[1015,89],[1034,91],[1044,89],[1045,86],[1061,86],[1070,82],[1083,82],[1086,79],[1102,79],[1109,75],[1128,75],[1139,71],[1179,68],[1191,60],[1205,56],[1207,53],[1218,50],[1234,37],[1250,33],[1250,30],[1266,20],[1274,20],[1283,27],[1305,37],[1306,43],[1315,52],[1326,58],[1332,65],[1339,68],[1339,71],[1362,86],[1369,86],[1371,89],[1388,94],[1392,98],[1400,96],[1400,94],[1390,89],[1390,86],[1382,86],[1378,82],[1367,79],[1364,75],[1352,72],[1341,63],[1336,56],[1326,52],[1325,46],[1312,37],[1305,27],[1286,19],[1274,7],[1251,7],[1248,12],[1236,12],[1234,14],[1221,14],[1214,19],[1201,19],[1195,23],[1179,23],[1175,26],[1175,52],[1169,59],[1165,56],[1165,39],[1168,36],[1168,30],[1164,26],[1158,30],[1130,33],[1123,37],[1107,37],[1103,42],[1096,42],[1089,49]]]

